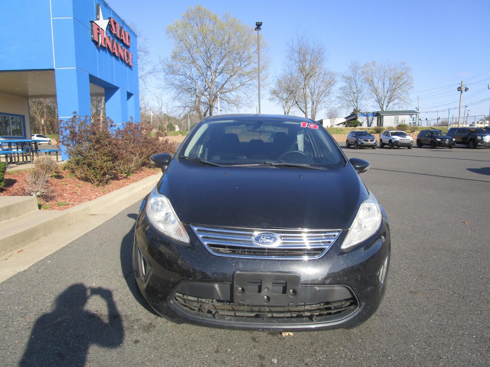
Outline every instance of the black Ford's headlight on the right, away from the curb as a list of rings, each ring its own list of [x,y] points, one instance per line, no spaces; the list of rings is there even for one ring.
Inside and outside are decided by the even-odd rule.
[[[361,204],[356,219],[354,219],[354,223],[350,226],[341,249],[348,249],[355,246],[376,233],[381,225],[381,218],[381,208],[376,198],[369,193],[369,198]]]

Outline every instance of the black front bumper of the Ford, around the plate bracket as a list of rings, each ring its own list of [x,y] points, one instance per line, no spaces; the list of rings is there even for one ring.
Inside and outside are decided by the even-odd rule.
[[[386,217],[380,229],[354,250],[340,249],[346,231],[321,258],[273,260],[220,257],[200,243],[188,225],[190,246],[162,236],[147,223],[144,209],[135,230],[133,271],[153,309],[171,321],[204,326],[270,331],[354,327],[374,314],[386,290],[378,274],[391,249]],[[138,270],[138,251],[147,274]],[[387,269],[386,269],[387,270]],[[299,303],[273,307],[244,305],[234,296],[237,271],[299,275]]]

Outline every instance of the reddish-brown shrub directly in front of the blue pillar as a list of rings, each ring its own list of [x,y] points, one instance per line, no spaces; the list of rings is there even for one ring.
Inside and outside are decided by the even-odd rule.
[[[114,137],[110,119],[74,115],[60,129],[60,141],[69,157],[68,168],[76,178],[96,186],[107,184],[116,174]]]

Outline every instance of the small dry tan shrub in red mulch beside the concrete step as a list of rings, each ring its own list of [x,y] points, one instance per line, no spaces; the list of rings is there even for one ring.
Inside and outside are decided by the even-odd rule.
[[[27,193],[36,197],[47,197],[51,193],[49,177],[58,170],[58,163],[50,157],[39,157],[34,166],[27,172]]]

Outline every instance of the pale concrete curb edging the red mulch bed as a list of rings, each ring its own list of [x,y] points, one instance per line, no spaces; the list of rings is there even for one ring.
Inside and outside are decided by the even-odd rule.
[[[134,201],[125,203],[129,197],[140,195],[143,199],[161,177],[161,173],[149,176],[66,210],[37,210],[26,214],[25,218],[21,216],[8,221],[11,224],[2,222],[5,229],[0,235],[0,256],[23,249],[33,240],[47,237],[89,215],[106,214],[111,206],[130,206]]]

